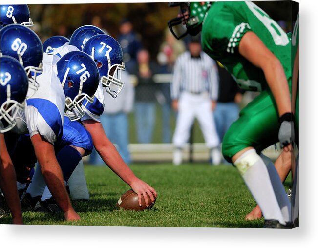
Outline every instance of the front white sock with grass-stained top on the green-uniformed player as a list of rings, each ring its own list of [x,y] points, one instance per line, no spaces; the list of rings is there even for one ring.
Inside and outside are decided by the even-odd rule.
[[[255,149],[244,152],[234,163],[245,184],[262,210],[266,220],[275,219],[286,224],[281,214],[265,163]]]

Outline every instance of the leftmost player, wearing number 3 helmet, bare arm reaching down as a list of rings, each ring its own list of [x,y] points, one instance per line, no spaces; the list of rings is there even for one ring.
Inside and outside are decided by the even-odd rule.
[[[1,56],[1,191],[12,214],[13,224],[23,224],[21,206],[16,184],[16,173],[8,153],[4,132],[17,123],[14,118],[24,108],[28,91],[28,77],[23,66],[14,58]]]

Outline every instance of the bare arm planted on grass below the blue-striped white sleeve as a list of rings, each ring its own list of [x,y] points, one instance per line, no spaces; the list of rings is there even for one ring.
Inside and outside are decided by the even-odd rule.
[[[65,219],[68,221],[80,219],[80,216],[74,211],[68,197],[62,170],[55,156],[54,146],[46,141],[40,134],[33,135],[31,142],[41,166],[45,183],[64,212]]]

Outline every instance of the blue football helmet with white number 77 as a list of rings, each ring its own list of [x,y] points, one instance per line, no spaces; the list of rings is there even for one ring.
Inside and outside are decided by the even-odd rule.
[[[95,35],[86,42],[83,52],[96,62],[103,86],[115,98],[124,86],[121,76],[125,70],[123,51],[118,41],[109,35]]]

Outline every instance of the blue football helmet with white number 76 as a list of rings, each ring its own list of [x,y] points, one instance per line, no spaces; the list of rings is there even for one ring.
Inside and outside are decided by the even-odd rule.
[[[65,94],[65,114],[76,121],[85,115],[86,105],[94,101],[99,84],[98,68],[92,58],[81,51],[65,54],[56,67]]]

